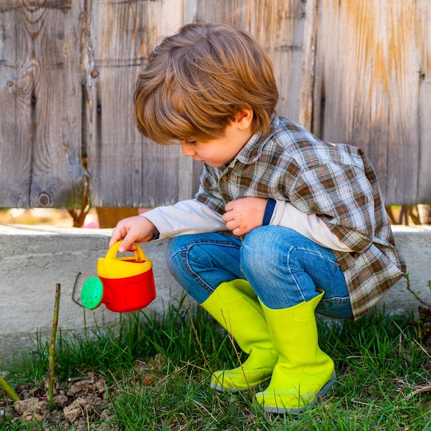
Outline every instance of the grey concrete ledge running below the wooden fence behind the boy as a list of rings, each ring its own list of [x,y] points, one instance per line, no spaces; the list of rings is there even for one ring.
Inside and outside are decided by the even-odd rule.
[[[406,257],[410,285],[421,291],[421,297],[431,303],[428,280],[431,255],[431,227],[395,226],[395,241]],[[0,364],[10,358],[11,349],[31,348],[30,337],[36,330],[42,336],[50,334],[54,312],[56,283],[61,283],[59,327],[80,332],[87,326],[112,324],[118,313],[105,306],[84,311],[72,301],[72,291],[78,273],[77,288],[88,277],[96,275],[96,261],[105,256],[112,229],[76,229],[30,227],[0,224]],[[163,313],[171,301],[178,301],[182,288],[171,277],[165,262],[167,242],[143,244],[145,254],[153,261],[157,298],[146,308],[148,313]],[[401,279],[383,298],[379,306],[388,313],[406,315],[417,311],[419,303],[407,291]]]

